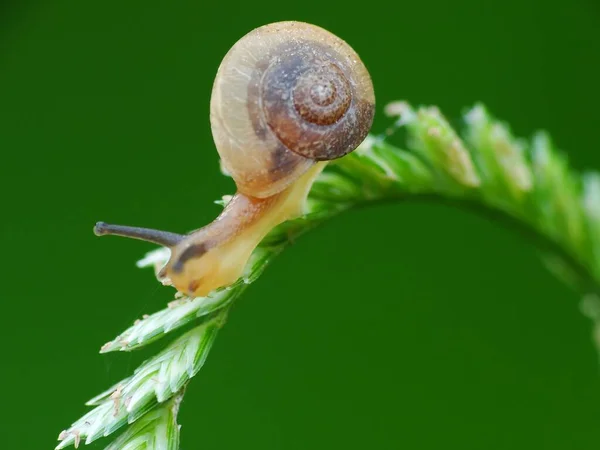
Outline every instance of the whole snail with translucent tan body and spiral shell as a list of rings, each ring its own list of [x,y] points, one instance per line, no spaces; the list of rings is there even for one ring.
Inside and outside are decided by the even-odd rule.
[[[169,247],[159,278],[187,296],[228,286],[273,227],[304,213],[315,178],[364,140],[374,109],[369,73],[342,39],[302,22],[257,28],[229,50],[212,90],[213,139],[237,188],[222,213],[187,235],[104,222],[94,232]]]

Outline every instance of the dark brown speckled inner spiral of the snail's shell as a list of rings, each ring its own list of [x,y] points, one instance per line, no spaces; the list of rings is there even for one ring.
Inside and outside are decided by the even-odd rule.
[[[361,101],[354,73],[334,48],[298,40],[282,44],[261,77],[262,114],[292,152],[331,160],[365,138],[374,104]]]

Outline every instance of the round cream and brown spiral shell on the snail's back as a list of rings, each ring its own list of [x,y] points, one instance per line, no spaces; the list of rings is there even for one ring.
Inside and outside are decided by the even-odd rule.
[[[238,191],[265,198],[315,161],[354,150],[374,106],[369,73],[346,42],[314,25],[279,22],[251,31],[227,53],[210,119]]]

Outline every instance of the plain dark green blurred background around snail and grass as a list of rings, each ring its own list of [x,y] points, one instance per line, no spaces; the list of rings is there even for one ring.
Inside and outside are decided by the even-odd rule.
[[[184,232],[233,190],[213,76],[254,27],[346,39],[383,105],[484,102],[600,169],[594,0],[17,2],[0,6],[0,446],[50,449],[145,352],[98,349],[172,292],[97,220]],[[180,413],[182,449],[592,449],[600,374],[578,297],[520,237],[398,204],[302,238],[235,306]],[[367,306],[365,306],[367,305]],[[90,448],[107,444],[100,441]]]

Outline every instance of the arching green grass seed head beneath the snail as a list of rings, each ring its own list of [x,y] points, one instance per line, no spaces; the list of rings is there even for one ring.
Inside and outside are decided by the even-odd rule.
[[[461,133],[435,107],[397,102],[387,111],[396,118],[394,126],[330,163],[312,186],[308,213],[264,238],[237,282],[208,297],[179,296],[102,347],[102,353],[131,351],[182,332],[129,378],[90,400],[95,408],[60,434],[58,449],[127,426],[107,450],[176,450],[175,417],[184,386],[202,367],[230,306],[291,242],[352,208],[445,203],[509,226],[535,243],[553,272],[585,296],[583,311],[600,330],[600,175],[573,171],[545,133],[530,141],[515,138],[480,105],[467,112]],[[406,135],[401,147],[391,143],[399,128]],[[161,248],[138,265],[156,271],[168,258]],[[192,329],[181,330],[195,319],[199,323]]]

